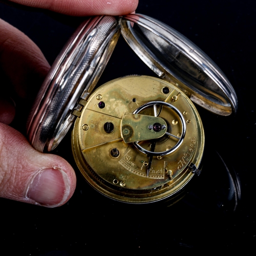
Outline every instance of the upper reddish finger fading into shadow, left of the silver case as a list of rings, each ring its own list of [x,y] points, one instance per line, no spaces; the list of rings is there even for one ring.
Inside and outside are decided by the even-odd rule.
[[[20,98],[34,96],[50,69],[46,58],[24,33],[0,19],[0,70]],[[6,87],[6,84],[5,84]]]

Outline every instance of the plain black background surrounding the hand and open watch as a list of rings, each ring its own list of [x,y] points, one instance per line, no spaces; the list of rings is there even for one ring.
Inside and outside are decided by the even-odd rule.
[[[137,12],[178,30],[217,63],[237,93],[237,115],[218,117],[198,108],[205,129],[204,172],[174,206],[117,204],[94,191],[79,172],[75,194],[64,206],[49,209],[1,199],[1,255],[170,255],[239,249],[254,255],[255,2],[143,0]],[[3,3],[0,17],[34,40],[50,64],[82,20]],[[99,84],[129,74],[154,76],[120,40]],[[25,123],[19,123],[22,132]],[[67,137],[56,154],[76,169]],[[241,181],[241,200],[234,212],[216,151]]]

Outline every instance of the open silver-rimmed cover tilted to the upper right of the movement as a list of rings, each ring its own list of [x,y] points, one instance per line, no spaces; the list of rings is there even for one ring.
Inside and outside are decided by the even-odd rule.
[[[123,16],[120,26],[127,44],[160,78],[177,83],[192,101],[215,114],[237,112],[237,96],[227,77],[185,36],[142,14]]]

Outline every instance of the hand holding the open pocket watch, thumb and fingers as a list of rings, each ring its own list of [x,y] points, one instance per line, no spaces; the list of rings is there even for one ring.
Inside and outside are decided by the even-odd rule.
[[[134,12],[138,5],[138,0],[12,2],[76,16],[122,15]],[[4,86],[11,87],[16,95],[28,100],[29,79],[39,86],[49,69],[49,63],[34,42],[0,19],[0,70],[8,77],[9,83]],[[34,150],[21,133],[9,126],[14,116],[14,102],[10,97],[1,95],[0,197],[46,207],[65,204],[76,186],[73,168],[59,156]]]

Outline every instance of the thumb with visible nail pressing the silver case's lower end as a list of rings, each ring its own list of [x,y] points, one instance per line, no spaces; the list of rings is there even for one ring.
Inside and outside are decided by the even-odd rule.
[[[76,176],[66,160],[37,152],[22,134],[3,123],[0,159],[0,197],[56,207],[74,193]]]

